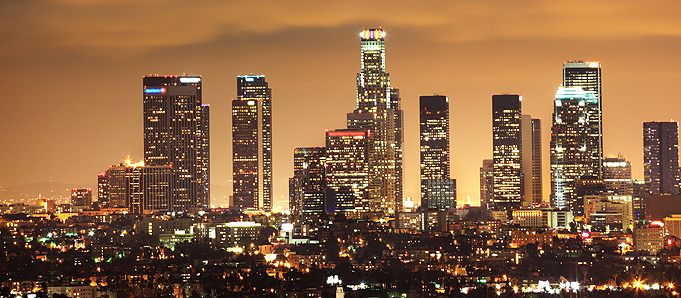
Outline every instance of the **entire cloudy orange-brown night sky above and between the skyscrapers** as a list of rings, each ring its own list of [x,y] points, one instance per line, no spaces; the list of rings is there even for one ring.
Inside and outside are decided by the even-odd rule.
[[[355,105],[359,32],[386,31],[405,110],[406,194],[418,195],[418,96],[450,98],[452,177],[477,203],[491,157],[491,95],[543,120],[567,60],[600,61],[606,156],[642,179],[642,122],[681,118],[679,1],[0,0],[0,187],[96,183],[141,160],[142,76],[201,75],[211,105],[213,203],[231,194],[236,76],[273,93],[274,182],[286,205],[293,148],[322,146]]]

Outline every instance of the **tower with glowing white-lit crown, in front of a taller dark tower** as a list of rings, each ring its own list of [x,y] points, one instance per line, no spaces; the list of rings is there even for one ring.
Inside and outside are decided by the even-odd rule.
[[[593,175],[592,143],[587,106],[598,98],[581,87],[559,87],[551,127],[551,206],[568,208],[573,204],[575,181]],[[575,211],[575,210],[571,210]]]

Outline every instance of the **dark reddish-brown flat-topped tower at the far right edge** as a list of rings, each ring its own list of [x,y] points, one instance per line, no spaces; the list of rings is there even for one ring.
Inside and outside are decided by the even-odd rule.
[[[679,193],[677,122],[643,122],[643,179],[651,195]]]

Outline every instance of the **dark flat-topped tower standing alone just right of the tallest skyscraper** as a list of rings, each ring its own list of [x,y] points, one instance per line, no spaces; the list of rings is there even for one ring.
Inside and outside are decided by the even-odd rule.
[[[449,176],[449,99],[420,96],[421,201],[426,208],[456,208],[456,181]]]

